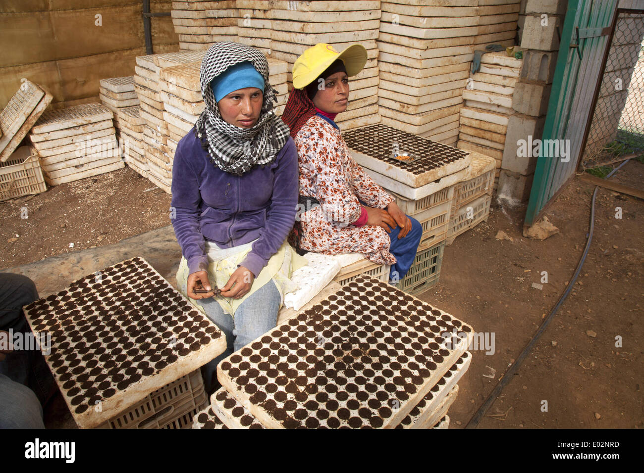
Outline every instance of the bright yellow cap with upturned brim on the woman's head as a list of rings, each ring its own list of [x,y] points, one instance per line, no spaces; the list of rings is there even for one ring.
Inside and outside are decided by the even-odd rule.
[[[341,53],[324,42],[319,42],[308,48],[293,64],[293,87],[296,89],[305,88],[337,59],[341,59],[345,63],[346,75],[354,76],[365,67],[365,46],[352,44]]]

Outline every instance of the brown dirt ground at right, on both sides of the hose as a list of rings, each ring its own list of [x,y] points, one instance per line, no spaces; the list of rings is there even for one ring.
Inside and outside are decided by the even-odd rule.
[[[629,162],[615,177],[642,183],[643,172],[642,163]],[[495,333],[493,355],[473,351],[450,428],[468,423],[564,292],[585,246],[593,190],[575,179],[562,192],[546,212],[560,233],[544,241],[522,236],[524,207],[495,199],[488,222],[446,248],[440,283],[421,298],[477,332]],[[643,427],[643,210],[642,201],[600,188],[592,245],[573,292],[478,427]],[[498,230],[513,241],[495,239]],[[533,288],[544,271],[547,284]]]

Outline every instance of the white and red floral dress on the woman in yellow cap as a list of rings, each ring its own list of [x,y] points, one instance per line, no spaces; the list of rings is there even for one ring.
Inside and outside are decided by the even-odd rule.
[[[300,248],[330,255],[357,252],[374,263],[396,263],[389,252],[389,234],[382,227],[351,225],[361,215],[359,199],[379,209],[394,199],[355,163],[340,131],[314,115],[299,129],[295,144],[299,194],[314,197],[320,203],[298,212]]]

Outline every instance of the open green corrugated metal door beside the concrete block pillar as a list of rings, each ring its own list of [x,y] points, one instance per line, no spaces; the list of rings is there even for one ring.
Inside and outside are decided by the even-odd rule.
[[[545,205],[577,169],[617,3],[568,1],[526,225],[535,223]],[[562,149],[567,150],[567,156],[562,156]]]

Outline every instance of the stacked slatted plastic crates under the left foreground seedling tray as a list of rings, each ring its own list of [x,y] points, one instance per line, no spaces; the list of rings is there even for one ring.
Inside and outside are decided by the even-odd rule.
[[[126,411],[100,424],[98,429],[160,429],[183,416],[196,405],[204,393],[199,369],[148,394]],[[205,394],[204,394],[205,396]],[[191,409],[187,406],[191,405]],[[175,413],[175,415],[173,415]]]

